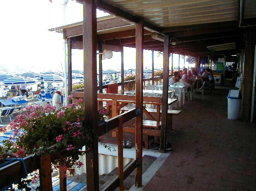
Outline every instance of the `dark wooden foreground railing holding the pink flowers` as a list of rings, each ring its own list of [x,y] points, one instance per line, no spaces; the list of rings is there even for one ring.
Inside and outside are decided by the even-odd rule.
[[[110,120],[105,121],[104,123],[100,123],[98,128],[100,129],[100,134],[105,134],[110,130],[118,127],[120,132],[122,132],[123,123],[133,119],[137,115],[140,114],[139,109],[133,109],[129,112],[123,113],[119,116],[116,116]],[[123,136],[120,134],[120,136]],[[79,145],[78,147],[82,147],[83,145]],[[121,163],[123,164],[123,155],[120,151],[123,149],[123,139],[122,142],[118,141],[118,164],[120,169],[122,168]],[[39,178],[40,178],[40,186],[43,191],[52,191],[52,169],[51,169],[51,161],[55,159],[61,158],[65,156],[66,151],[62,153],[54,153],[48,156],[37,156],[37,155],[29,155],[24,157],[24,162],[26,165],[26,169],[28,174],[34,172],[35,170],[39,170]],[[119,167],[118,166],[118,167]],[[129,174],[136,168],[137,162],[133,160],[129,165],[122,171],[118,170],[118,176],[114,178],[110,183],[103,185],[103,191],[114,191],[119,185],[123,185],[123,180],[129,176]],[[9,165],[6,165],[0,168],[0,189],[13,184],[13,182],[20,180],[21,178],[25,178],[24,166],[21,161],[15,161]],[[60,171],[61,177],[61,171]],[[61,179],[61,178],[60,178]],[[66,191],[67,184],[66,178],[62,178],[60,180],[60,191]]]

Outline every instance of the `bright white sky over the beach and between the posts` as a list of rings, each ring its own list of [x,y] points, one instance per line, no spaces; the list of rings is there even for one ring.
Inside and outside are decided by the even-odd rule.
[[[60,70],[64,66],[62,34],[48,29],[62,26],[63,0],[1,0],[0,1],[0,67],[13,70],[46,71]],[[97,10],[97,17],[108,15]],[[69,0],[66,6],[66,24],[83,19],[83,6]],[[155,69],[163,68],[163,57],[156,56]],[[179,55],[174,55],[174,66],[178,66]],[[120,70],[119,52],[111,59],[103,60],[103,70]],[[151,68],[151,51],[144,50],[144,68]],[[184,60],[180,60],[183,67]],[[185,63],[187,67],[188,63]],[[72,50],[72,67],[83,68],[83,51]],[[136,50],[124,48],[124,68],[136,68]]]

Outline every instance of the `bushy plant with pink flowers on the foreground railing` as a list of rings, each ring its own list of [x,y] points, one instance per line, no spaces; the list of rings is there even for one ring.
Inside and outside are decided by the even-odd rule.
[[[104,120],[109,114],[108,106],[98,110],[98,121]],[[0,160],[1,156],[4,159],[10,155],[25,157],[32,153],[49,155],[65,151],[65,156],[52,162],[65,175],[67,172],[73,175],[75,167],[83,165],[79,155],[90,151],[91,140],[96,136],[84,123],[83,99],[73,100],[63,110],[56,110],[49,104],[44,108],[28,106],[11,123],[11,129],[14,136],[4,140],[4,147],[0,147]],[[5,127],[0,128],[0,132],[4,131]],[[86,151],[79,151],[82,145],[86,146]]]

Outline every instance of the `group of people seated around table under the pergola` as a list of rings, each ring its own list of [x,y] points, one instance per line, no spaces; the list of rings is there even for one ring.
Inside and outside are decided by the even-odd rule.
[[[191,68],[191,70],[184,68],[183,70],[175,71],[174,75],[169,80],[169,85],[173,85],[174,83],[187,83],[192,87],[192,84],[197,80],[206,81],[208,84],[214,85],[214,77],[211,69],[202,68],[199,74],[197,70],[198,68]]]

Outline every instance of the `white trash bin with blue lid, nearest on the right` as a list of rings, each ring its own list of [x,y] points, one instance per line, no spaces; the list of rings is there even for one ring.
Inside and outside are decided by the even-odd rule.
[[[240,118],[241,91],[230,89],[228,93],[228,119],[237,120]]]

